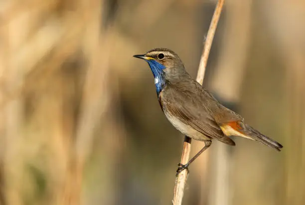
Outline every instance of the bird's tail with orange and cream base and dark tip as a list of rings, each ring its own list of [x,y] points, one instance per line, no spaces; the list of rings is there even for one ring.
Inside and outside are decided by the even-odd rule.
[[[281,151],[281,148],[283,148],[282,144],[280,144],[279,142],[273,140],[270,137],[263,135],[259,131],[255,130],[254,128],[252,128],[247,124],[244,124],[241,121],[225,123],[220,127],[223,133],[227,136],[239,136],[239,137],[253,139],[269,147],[272,147],[278,151]]]

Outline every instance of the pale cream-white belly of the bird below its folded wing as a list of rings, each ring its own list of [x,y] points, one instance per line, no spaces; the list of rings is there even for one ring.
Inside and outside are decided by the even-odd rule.
[[[202,133],[193,129],[191,126],[186,125],[185,123],[181,122],[178,118],[174,117],[166,110],[164,110],[164,114],[165,114],[166,118],[168,119],[168,121],[183,135],[186,135],[188,137],[191,137],[193,139],[200,140],[200,141],[210,139],[209,137],[206,137]]]

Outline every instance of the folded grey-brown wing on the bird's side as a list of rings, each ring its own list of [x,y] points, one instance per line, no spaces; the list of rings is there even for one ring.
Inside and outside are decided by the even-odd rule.
[[[208,107],[208,96],[205,96],[200,88],[198,89],[199,84],[196,85],[196,83],[168,84],[162,91],[164,92],[162,93],[163,108],[205,136],[235,145],[234,141],[226,137],[215,122]]]

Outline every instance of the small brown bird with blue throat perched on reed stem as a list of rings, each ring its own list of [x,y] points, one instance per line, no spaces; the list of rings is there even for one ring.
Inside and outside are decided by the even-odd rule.
[[[283,148],[282,144],[255,130],[244,122],[241,115],[218,102],[188,74],[173,51],[156,48],[134,57],[149,64],[157,98],[168,121],[183,135],[205,143],[186,164],[178,164],[177,175],[188,169],[189,164],[211,145],[212,139],[235,146],[230,137],[244,137],[259,141],[277,151]]]

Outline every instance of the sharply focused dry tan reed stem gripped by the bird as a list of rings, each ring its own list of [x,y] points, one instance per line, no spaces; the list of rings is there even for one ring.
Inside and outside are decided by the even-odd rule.
[[[198,73],[197,73],[197,78],[196,80],[202,85],[203,83],[203,78],[204,78],[204,73],[205,73],[205,68],[207,64],[207,60],[209,57],[209,53],[211,50],[214,34],[217,28],[218,20],[221,14],[221,10],[224,4],[224,0],[218,0],[216,4],[216,8],[211,20],[211,24],[208,30],[208,34],[206,37],[206,41],[204,44],[203,52],[201,55],[200,59],[200,64],[198,68]],[[183,142],[183,149],[182,149],[182,155],[181,155],[181,164],[186,164],[189,159],[189,154],[190,154],[190,144],[191,140],[189,137],[185,136],[184,142]],[[175,180],[175,187],[174,187],[174,196],[172,200],[173,205],[181,205],[182,204],[182,198],[184,194],[184,187],[186,183],[188,172],[187,170],[183,170]]]

